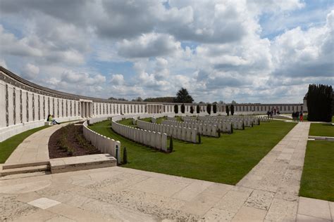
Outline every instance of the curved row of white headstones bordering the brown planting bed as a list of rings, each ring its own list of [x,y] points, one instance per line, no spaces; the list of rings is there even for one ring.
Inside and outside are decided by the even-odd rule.
[[[97,121],[97,119],[98,118],[96,118],[95,121]],[[82,125],[82,131],[85,138],[101,152],[109,153],[111,156],[115,157],[117,159],[117,163],[120,164],[120,141],[115,141],[114,139],[92,131],[87,127],[87,121],[85,121]]]

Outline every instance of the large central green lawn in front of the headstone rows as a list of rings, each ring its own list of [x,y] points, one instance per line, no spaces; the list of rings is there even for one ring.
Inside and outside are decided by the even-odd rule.
[[[221,138],[202,136],[202,144],[173,140],[171,153],[153,150],[114,133],[108,121],[89,128],[127,148],[128,164],[124,167],[235,185],[293,126],[295,123],[281,121],[261,123],[222,134]]]

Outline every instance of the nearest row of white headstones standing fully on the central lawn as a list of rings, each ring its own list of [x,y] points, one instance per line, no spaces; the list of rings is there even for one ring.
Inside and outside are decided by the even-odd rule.
[[[137,143],[142,143],[148,145],[151,148],[156,148],[158,150],[163,150],[167,152],[167,134],[160,133],[156,131],[147,131],[143,129],[137,129],[130,126],[125,126],[123,124],[118,124],[117,122],[111,122],[111,128],[116,133],[129,138]]]

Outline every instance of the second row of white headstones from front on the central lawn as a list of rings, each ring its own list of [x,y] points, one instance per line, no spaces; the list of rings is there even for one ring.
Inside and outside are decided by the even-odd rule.
[[[144,122],[142,120],[137,120],[137,126],[140,129],[166,133],[168,136],[173,136],[173,138],[191,143],[196,143],[196,136],[198,134],[198,130],[194,128],[191,129],[180,126],[170,126],[166,124],[154,124]]]

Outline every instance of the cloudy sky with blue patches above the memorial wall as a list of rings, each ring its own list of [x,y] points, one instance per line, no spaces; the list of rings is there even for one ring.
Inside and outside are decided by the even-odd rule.
[[[301,103],[333,33],[332,0],[0,0],[0,65],[99,98]]]

